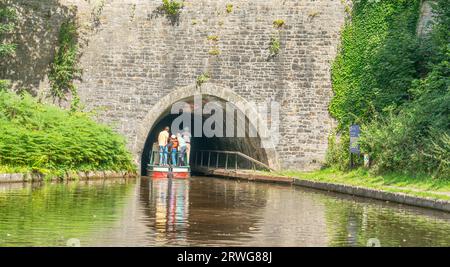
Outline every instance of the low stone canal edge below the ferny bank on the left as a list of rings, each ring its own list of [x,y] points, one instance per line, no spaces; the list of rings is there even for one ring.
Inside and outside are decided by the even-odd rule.
[[[132,177],[136,177],[136,174],[132,174],[127,171],[74,172],[74,174],[66,174],[66,176],[64,178],[59,178],[59,177],[49,178],[43,174],[36,174],[36,173],[0,173],[0,183],[73,181],[73,180],[132,178]]]

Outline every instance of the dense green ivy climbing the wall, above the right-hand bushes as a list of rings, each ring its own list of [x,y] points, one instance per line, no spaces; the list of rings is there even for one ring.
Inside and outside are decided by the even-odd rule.
[[[408,99],[416,78],[419,0],[355,3],[332,66],[330,113],[339,128],[368,121]]]

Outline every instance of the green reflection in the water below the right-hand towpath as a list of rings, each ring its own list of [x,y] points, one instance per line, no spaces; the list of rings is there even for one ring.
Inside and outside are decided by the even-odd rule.
[[[325,200],[329,246],[448,246],[449,221],[349,201]]]

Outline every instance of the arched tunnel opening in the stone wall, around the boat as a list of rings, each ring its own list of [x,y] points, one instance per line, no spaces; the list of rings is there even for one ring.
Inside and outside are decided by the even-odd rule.
[[[180,122],[181,114],[188,116],[189,120]],[[180,99],[169,105],[153,123],[142,150],[141,175],[147,175],[153,144],[166,126],[171,128],[171,134],[189,127],[192,134],[191,165],[201,150],[237,151],[270,165],[255,121],[255,118],[249,119],[246,111],[217,96],[201,94]],[[239,167],[249,167],[246,166],[248,162],[238,163]]]

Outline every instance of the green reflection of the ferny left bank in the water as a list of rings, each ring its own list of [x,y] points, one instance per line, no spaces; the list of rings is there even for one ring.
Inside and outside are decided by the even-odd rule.
[[[134,184],[49,184],[0,193],[0,246],[65,246],[115,221]]]

